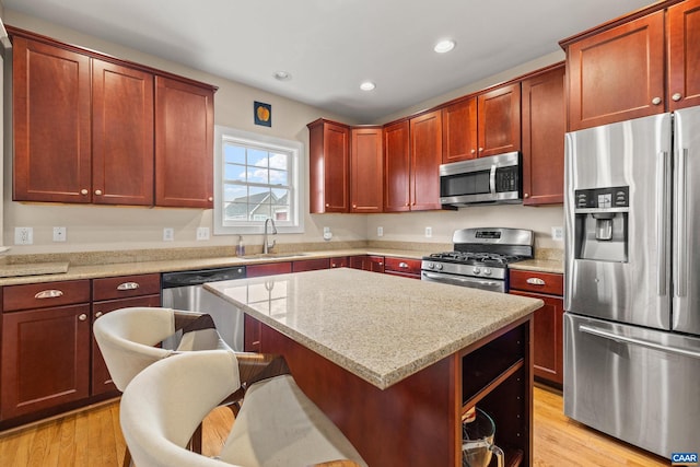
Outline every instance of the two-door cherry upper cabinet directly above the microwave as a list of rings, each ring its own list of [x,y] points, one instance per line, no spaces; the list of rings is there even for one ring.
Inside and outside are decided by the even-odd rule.
[[[520,151],[521,84],[470,95],[442,109],[442,163]]]

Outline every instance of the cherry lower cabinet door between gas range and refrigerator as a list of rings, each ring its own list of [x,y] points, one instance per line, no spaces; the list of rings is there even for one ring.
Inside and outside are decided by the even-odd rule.
[[[511,291],[545,302],[534,314],[534,374],[558,385],[563,384],[563,300],[558,296]]]

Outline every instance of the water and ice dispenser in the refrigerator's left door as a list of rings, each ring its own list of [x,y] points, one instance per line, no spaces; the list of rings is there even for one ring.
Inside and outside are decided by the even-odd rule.
[[[629,187],[578,189],[575,258],[627,262]]]

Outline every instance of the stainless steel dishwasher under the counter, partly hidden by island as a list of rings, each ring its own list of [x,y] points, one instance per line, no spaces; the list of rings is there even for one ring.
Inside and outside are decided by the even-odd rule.
[[[167,308],[208,313],[222,339],[233,350],[243,351],[243,312],[202,288],[207,282],[243,278],[245,266],[165,272],[161,277],[162,303]]]

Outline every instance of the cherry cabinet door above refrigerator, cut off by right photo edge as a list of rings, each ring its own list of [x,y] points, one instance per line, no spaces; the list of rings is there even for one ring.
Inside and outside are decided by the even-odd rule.
[[[700,105],[700,0],[668,9],[668,109]]]

